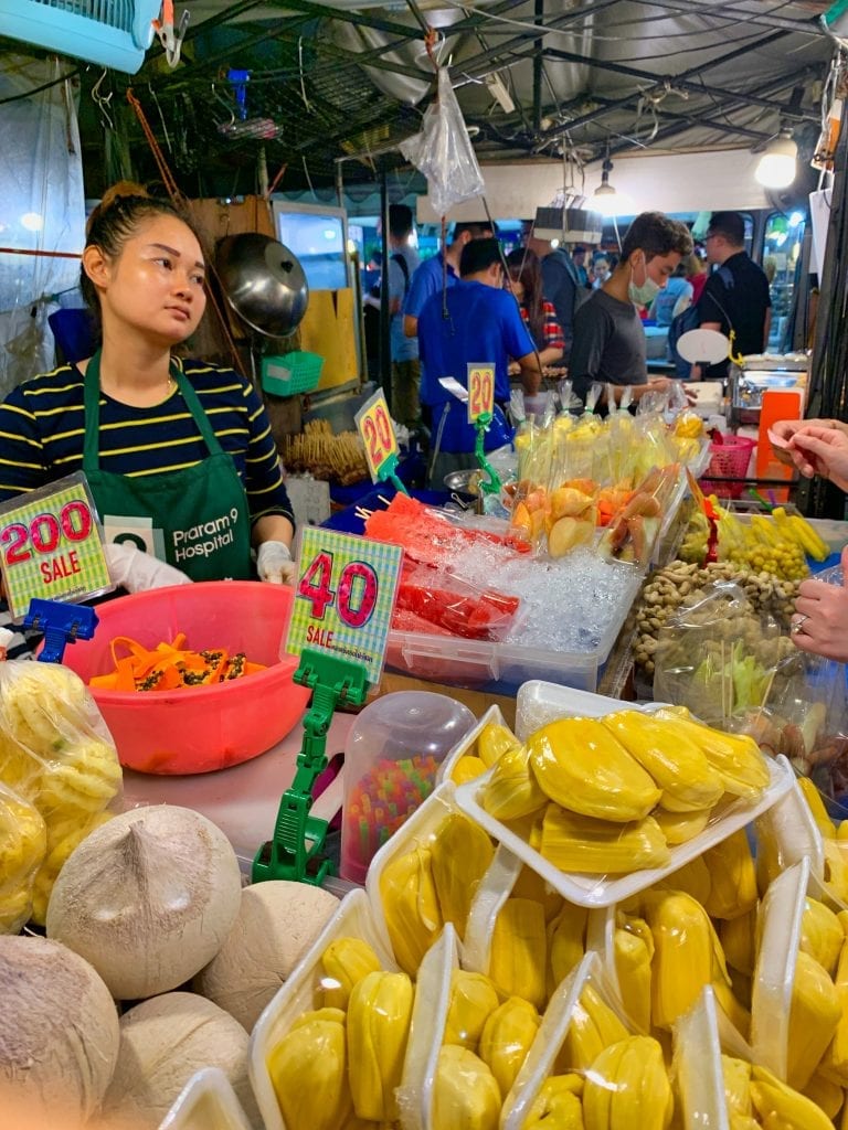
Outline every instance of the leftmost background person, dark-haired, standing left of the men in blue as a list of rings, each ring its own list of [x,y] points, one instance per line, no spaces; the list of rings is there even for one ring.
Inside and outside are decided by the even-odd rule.
[[[391,341],[391,415],[407,427],[421,419],[418,385],[418,342],[404,332],[403,305],[409,293],[413,275],[421,259],[413,246],[413,210],[407,205],[389,205],[389,269],[383,271],[381,287],[389,282],[389,316]],[[379,296],[366,296],[365,304],[380,308]]]

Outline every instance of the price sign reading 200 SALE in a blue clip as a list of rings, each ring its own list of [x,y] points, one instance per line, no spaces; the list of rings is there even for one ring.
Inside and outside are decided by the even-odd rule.
[[[0,506],[0,571],[12,619],[33,597],[84,600],[112,588],[81,471]]]

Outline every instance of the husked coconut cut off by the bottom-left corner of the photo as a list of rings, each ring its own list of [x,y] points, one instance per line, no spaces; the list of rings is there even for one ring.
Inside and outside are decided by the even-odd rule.
[[[90,1118],[119,1038],[115,1003],[87,962],[46,938],[0,937],[0,1112]]]

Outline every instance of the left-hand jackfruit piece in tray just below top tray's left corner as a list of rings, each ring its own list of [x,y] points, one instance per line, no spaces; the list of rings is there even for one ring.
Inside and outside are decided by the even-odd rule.
[[[414,976],[443,925],[429,847],[389,860],[380,876],[380,898],[398,965]]]

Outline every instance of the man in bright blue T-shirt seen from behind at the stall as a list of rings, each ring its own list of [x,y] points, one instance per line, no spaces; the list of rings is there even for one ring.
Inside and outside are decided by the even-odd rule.
[[[509,403],[509,363],[518,363],[527,393],[542,381],[538,357],[512,294],[503,289],[497,241],[473,240],[462,249],[460,279],[444,295],[435,294],[418,318],[418,342],[423,360],[422,403],[432,414],[430,486],[441,489],[444,476],[476,466],[476,432],[468,423],[467,406],[445,391],[440,377],[452,376],[468,386],[468,366],[494,370],[495,410],[486,433],[485,449],[509,443],[512,429],[504,408]]]

